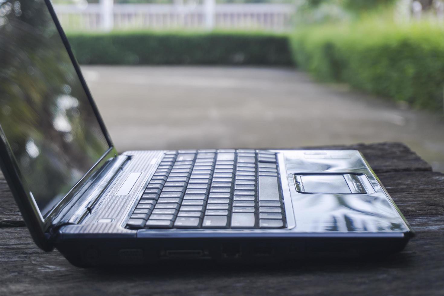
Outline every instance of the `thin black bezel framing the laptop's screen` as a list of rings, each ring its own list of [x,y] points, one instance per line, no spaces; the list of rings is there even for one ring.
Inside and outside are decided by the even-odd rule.
[[[51,234],[48,233],[48,229],[53,225],[53,221],[58,217],[67,205],[74,197],[75,193],[79,188],[83,187],[83,184],[91,178],[91,176],[102,166],[112,158],[115,158],[118,154],[115,150],[114,144],[111,141],[111,137],[106,129],[105,123],[99,114],[99,110],[92,98],[91,92],[87,87],[87,83],[83,78],[82,72],[80,71],[79,64],[74,57],[71,47],[68,43],[67,36],[65,35],[61,24],[56,16],[56,12],[52,6],[50,0],[43,0],[48,8],[48,11],[52,17],[52,20],[59,32],[59,36],[62,39],[63,45],[71,59],[71,63],[75,69],[79,81],[82,84],[83,90],[87,95],[87,98],[91,104],[92,110],[99,122],[103,134],[108,143],[108,150],[102,155],[102,157],[88,170],[88,172],[71,188],[71,190],[55,205],[45,216],[43,216],[34,200],[29,188],[22,182],[23,173],[20,172],[16,159],[14,157],[11,146],[5,137],[5,134],[0,126],[0,167],[3,171],[4,177],[8,182],[9,188],[12,191],[12,195],[16,200],[16,203],[20,209],[20,212],[24,218],[26,225],[32,235],[32,238],[36,244],[45,251],[50,251],[54,248],[51,242]]]

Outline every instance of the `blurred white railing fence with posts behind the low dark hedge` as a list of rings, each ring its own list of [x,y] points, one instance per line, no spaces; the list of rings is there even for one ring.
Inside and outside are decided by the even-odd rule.
[[[291,28],[292,4],[99,4],[55,5],[67,31],[235,29],[285,31]]]

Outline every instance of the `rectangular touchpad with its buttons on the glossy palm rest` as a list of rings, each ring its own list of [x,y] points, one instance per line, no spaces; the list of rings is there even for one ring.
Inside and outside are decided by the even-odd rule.
[[[294,174],[300,193],[368,193],[372,189],[365,175],[358,174]]]

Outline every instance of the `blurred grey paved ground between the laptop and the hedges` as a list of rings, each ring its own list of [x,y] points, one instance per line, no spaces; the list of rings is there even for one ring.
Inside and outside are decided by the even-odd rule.
[[[444,171],[444,120],[289,68],[83,66],[119,151],[400,141]]]

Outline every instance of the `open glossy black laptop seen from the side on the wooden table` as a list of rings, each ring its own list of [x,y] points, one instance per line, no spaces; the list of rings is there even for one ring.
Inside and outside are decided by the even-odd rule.
[[[413,232],[356,150],[117,150],[49,0],[1,4],[1,169],[76,266],[390,254]]]

